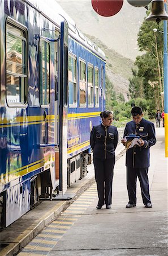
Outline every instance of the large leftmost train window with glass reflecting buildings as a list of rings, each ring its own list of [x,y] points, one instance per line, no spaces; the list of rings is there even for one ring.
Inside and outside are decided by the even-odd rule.
[[[8,106],[27,104],[27,61],[27,31],[21,24],[15,24],[7,19],[6,100]]]

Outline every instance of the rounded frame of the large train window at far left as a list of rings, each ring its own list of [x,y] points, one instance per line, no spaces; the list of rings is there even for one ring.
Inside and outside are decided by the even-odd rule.
[[[23,40],[25,42],[25,51],[21,53],[21,56],[24,56],[24,63],[25,63],[25,74],[15,73],[11,71],[7,71],[7,24],[11,27],[20,30],[23,33],[23,36],[17,35],[15,32],[10,32],[10,34],[16,36],[17,38]],[[14,77],[23,77],[24,78],[24,102],[16,102],[9,104],[7,101],[7,75],[14,76]],[[18,21],[12,19],[11,17],[7,17],[5,22],[5,98],[6,104],[9,108],[26,108],[28,105],[28,29],[23,24],[19,23]],[[19,93],[20,95],[20,93]]]

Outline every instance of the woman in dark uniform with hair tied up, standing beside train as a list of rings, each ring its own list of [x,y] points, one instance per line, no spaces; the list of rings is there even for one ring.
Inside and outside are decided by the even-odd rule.
[[[118,131],[111,126],[113,114],[105,110],[100,113],[102,122],[91,131],[90,143],[93,150],[93,163],[98,191],[97,209],[104,204],[111,208],[113,169],[115,164],[115,148],[118,144]]]

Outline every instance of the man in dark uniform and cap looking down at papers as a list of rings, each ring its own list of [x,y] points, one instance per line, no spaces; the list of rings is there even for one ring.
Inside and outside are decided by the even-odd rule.
[[[133,121],[128,122],[124,130],[122,143],[125,145],[125,136],[135,134],[140,137],[139,145],[127,149],[127,190],[129,202],[126,208],[136,206],[136,180],[140,181],[141,195],[145,207],[152,208],[149,195],[148,167],[149,148],[156,143],[154,124],[143,118],[143,111],[140,107],[133,107],[131,110]]]

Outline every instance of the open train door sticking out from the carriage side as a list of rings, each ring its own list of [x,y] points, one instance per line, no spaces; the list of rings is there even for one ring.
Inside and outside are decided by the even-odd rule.
[[[58,42],[58,101],[55,101],[55,170],[58,177],[59,193],[63,196],[67,190],[67,88],[68,88],[68,24],[61,22],[61,36]],[[57,108],[58,102],[58,108]],[[57,111],[58,109],[58,111]],[[58,129],[58,132],[57,132]],[[58,136],[57,136],[58,134]],[[59,151],[59,152],[58,152]],[[58,160],[59,156],[59,160]]]

